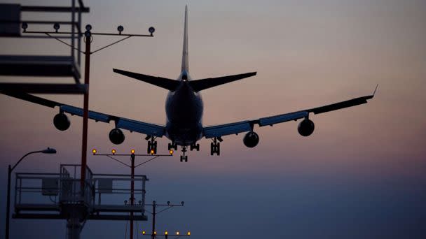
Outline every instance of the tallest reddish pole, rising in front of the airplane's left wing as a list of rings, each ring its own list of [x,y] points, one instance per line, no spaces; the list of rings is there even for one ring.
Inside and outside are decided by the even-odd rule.
[[[84,84],[87,92],[84,93],[83,103],[83,142],[81,145],[81,191],[84,192],[85,167],[87,164],[88,151],[88,115],[89,115],[89,78],[90,78],[90,30],[85,31],[85,62],[84,62]]]

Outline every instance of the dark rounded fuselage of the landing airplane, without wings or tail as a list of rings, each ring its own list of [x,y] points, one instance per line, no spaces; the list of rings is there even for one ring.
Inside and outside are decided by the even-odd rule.
[[[179,76],[180,85],[165,101],[166,136],[177,145],[191,145],[202,138],[202,98],[188,84],[187,73]]]

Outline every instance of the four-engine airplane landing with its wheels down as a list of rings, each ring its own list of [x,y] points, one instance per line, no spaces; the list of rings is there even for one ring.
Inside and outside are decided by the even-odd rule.
[[[148,141],[147,153],[156,154],[157,141],[156,138],[165,136],[171,143],[168,143],[168,150],[177,150],[178,146],[181,147],[183,155],[180,161],[188,161],[188,156],[185,155],[187,149],[200,150],[200,145],[197,143],[201,138],[212,139],[210,143],[210,154],[220,155],[220,143],[223,141],[223,136],[231,134],[245,133],[243,143],[247,147],[255,147],[259,143],[259,135],[254,132],[254,125],[258,126],[273,126],[282,122],[296,121],[303,119],[298,124],[298,133],[301,136],[310,136],[314,129],[315,124],[310,119],[310,113],[315,115],[326,113],[332,110],[339,110],[357,106],[367,103],[367,100],[373,99],[376,94],[374,89],[373,94],[369,96],[362,96],[347,101],[332,103],[327,106],[317,108],[310,108],[306,110],[299,110],[293,113],[284,113],[282,115],[273,115],[269,117],[262,117],[259,119],[249,119],[240,122],[233,122],[230,124],[221,124],[215,126],[202,126],[202,112],[203,103],[200,92],[205,89],[223,85],[235,80],[241,80],[256,75],[256,72],[243,73],[239,75],[228,75],[219,78],[205,78],[200,80],[193,80],[189,75],[189,61],[188,61],[188,8],[185,7],[185,20],[184,20],[184,44],[181,60],[181,73],[177,80],[168,78],[160,78],[151,75],[142,75],[130,71],[123,71],[114,68],[115,73],[135,78],[143,82],[156,85],[169,91],[165,103],[166,124],[150,124],[146,122],[137,121],[134,119],[127,119],[114,115],[107,115],[95,111],[89,111],[89,119],[94,119],[96,122],[114,122],[115,127],[109,132],[109,140],[111,143],[119,145],[125,140],[125,135],[122,129],[130,132],[137,132],[146,135],[145,140]],[[83,109],[74,106],[69,106],[64,103],[50,101],[43,99],[39,96],[26,93],[11,93],[0,92],[8,96],[12,96],[32,103],[37,103],[50,108],[59,107],[59,113],[53,118],[53,124],[60,131],[65,131],[69,128],[70,122],[64,113],[71,115],[83,116]]]

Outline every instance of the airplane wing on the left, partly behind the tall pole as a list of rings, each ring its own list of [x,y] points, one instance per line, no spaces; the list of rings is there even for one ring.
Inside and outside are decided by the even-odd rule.
[[[64,103],[59,103],[56,101],[50,101],[48,99],[43,99],[39,96],[33,96],[32,94],[27,94],[27,93],[10,93],[10,92],[0,92],[0,93],[17,98],[17,99],[22,99],[24,101],[37,103],[42,106],[48,106],[50,108],[55,108],[56,106],[58,106],[60,110],[64,113],[69,113],[71,115],[78,115],[83,117],[82,108],[69,106]],[[109,123],[112,120],[116,123],[116,127],[119,129],[127,129],[128,131],[144,133],[148,136],[162,137],[165,135],[165,126],[161,126],[157,124],[149,124],[149,123],[140,122],[133,119],[118,117],[115,115],[107,115],[107,114],[95,112],[92,110],[89,110],[88,117],[89,119],[93,119],[96,122],[100,121],[100,122]]]

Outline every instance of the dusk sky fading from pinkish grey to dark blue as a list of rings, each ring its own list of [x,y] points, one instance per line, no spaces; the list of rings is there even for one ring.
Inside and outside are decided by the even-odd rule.
[[[15,2],[15,1],[4,1]],[[54,5],[58,1],[20,1]],[[59,1],[67,5],[69,1]],[[426,236],[426,2],[350,1],[84,1],[92,31],[146,34],[92,55],[90,109],[165,123],[164,89],[112,72],[112,68],[177,78],[184,8],[188,5],[191,78],[257,71],[252,78],[202,92],[203,124],[256,119],[369,95],[362,106],[311,115],[315,132],[298,135],[298,122],[255,128],[260,143],[249,149],[244,134],[226,136],[221,156],[209,140],[188,162],[179,154],[137,168],[146,174],[147,201],[185,201],[158,216],[158,231],[191,231],[193,238],[425,238]],[[63,16],[63,15],[62,15]],[[29,20],[38,13],[22,15]],[[60,14],[49,19],[61,19]],[[46,18],[44,18],[46,19]],[[63,19],[63,18],[62,18]],[[34,27],[34,28],[32,28]],[[29,26],[29,29],[50,27]],[[97,49],[116,40],[95,37]],[[0,39],[1,55],[65,55],[55,40]],[[72,82],[71,78],[11,78],[1,82]],[[73,106],[83,96],[41,95]],[[81,127],[57,131],[57,109],[0,95],[0,192],[7,166],[34,154],[17,172],[59,171],[79,164]],[[125,143],[109,142],[112,124],[90,121],[88,148],[99,152],[146,150],[144,135],[125,131]],[[167,152],[166,138],[158,152]],[[140,159],[142,160],[142,159]],[[129,173],[108,158],[88,155],[94,173]],[[117,203],[125,198],[118,197]],[[4,215],[6,197],[0,198]],[[150,218],[151,219],[151,218]],[[0,218],[0,235],[4,217]],[[85,224],[81,238],[122,238],[125,222]],[[150,222],[138,224],[140,231]],[[65,236],[62,220],[11,220],[12,238]]]

